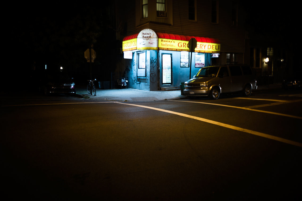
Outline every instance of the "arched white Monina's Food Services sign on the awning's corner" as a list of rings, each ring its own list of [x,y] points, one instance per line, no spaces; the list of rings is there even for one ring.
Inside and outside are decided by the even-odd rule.
[[[144,29],[137,36],[137,49],[157,50],[157,43],[157,35],[151,29]]]

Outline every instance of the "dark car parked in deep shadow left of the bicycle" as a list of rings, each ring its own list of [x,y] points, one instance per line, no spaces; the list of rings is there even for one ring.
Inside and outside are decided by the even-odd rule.
[[[76,94],[73,78],[61,71],[45,71],[40,78],[39,91],[45,95]]]

